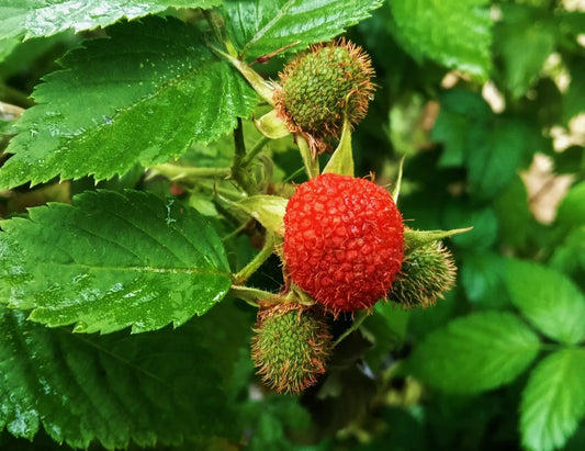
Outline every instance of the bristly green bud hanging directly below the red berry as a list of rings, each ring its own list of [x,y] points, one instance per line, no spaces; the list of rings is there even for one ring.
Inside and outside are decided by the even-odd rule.
[[[331,335],[311,307],[280,303],[261,308],[252,359],[262,381],[278,393],[301,393],[325,373]]]

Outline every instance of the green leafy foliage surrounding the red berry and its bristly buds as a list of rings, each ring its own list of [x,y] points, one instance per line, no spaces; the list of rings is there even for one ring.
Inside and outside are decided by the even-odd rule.
[[[274,395],[229,293],[263,230],[234,202],[303,164],[212,46],[299,42],[251,66],[275,79],[342,33],[376,71],[357,176],[406,156],[408,225],[474,228],[437,306],[376,304],[317,386]],[[570,0],[3,1],[0,448],[584,449],[584,36]]]

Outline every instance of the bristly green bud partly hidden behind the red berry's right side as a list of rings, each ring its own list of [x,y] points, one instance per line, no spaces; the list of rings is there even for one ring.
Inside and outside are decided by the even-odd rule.
[[[453,287],[455,273],[451,252],[441,241],[426,244],[405,256],[387,297],[405,308],[427,308]]]

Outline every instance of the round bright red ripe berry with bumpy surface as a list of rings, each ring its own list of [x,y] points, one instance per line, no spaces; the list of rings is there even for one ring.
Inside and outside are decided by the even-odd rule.
[[[404,225],[375,183],[326,173],[301,184],[284,215],[291,280],[334,313],[368,308],[401,270]]]

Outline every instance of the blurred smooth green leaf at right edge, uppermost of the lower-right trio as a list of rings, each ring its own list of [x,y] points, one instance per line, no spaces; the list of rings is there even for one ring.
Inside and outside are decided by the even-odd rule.
[[[541,264],[509,260],[511,302],[547,337],[574,345],[585,339],[585,297],[566,275]]]

